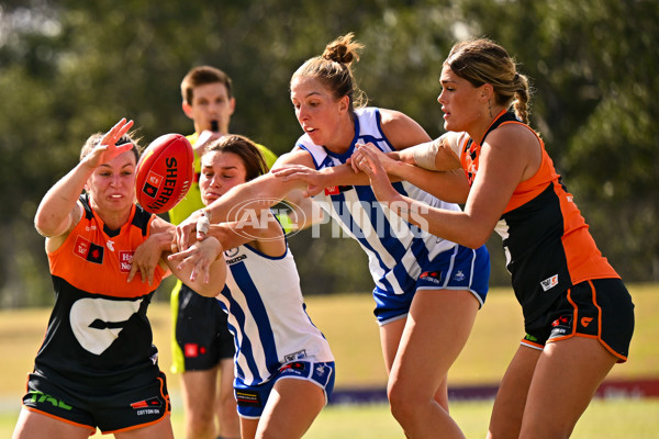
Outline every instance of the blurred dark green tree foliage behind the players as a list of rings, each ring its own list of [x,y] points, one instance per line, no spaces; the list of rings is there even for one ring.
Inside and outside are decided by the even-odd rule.
[[[467,36],[504,45],[532,78],[541,132],[602,251],[628,281],[659,280],[659,2],[656,0],[5,0],[0,3],[0,306],[52,303],[33,216],[89,134],[122,116],[147,145],[189,134],[179,83],[193,66],[235,85],[232,131],[278,154],[301,134],[292,72],[347,32],[370,103],[442,134],[438,76]],[[306,294],[370,291],[347,238],[290,239]],[[510,284],[501,241],[492,283]],[[167,300],[167,294],[160,294]]]

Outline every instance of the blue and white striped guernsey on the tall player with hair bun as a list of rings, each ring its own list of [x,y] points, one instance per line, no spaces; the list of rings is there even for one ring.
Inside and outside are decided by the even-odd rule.
[[[309,151],[316,169],[343,165],[355,151],[355,144],[372,143],[384,153],[393,151],[380,124],[380,111],[376,108],[356,110],[355,137],[348,150],[334,154],[314,144],[309,135],[302,135],[297,146]],[[446,203],[406,182],[393,183],[401,194],[427,205],[459,211],[454,203]],[[415,290],[422,267],[456,244],[420,229],[392,213],[378,202],[370,185],[338,187],[314,196],[344,229],[359,241],[369,258],[369,271],[376,284],[389,294],[403,294]]]

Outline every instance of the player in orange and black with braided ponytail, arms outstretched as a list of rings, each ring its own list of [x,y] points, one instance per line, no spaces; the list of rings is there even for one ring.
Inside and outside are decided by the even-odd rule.
[[[608,371],[627,360],[632,297],[528,126],[528,80],[507,52],[485,38],[458,43],[440,82],[448,133],[399,153],[401,161],[365,147],[353,162],[381,202],[418,211],[418,225],[437,236],[476,247],[501,235],[526,334],[488,437],[567,438]],[[388,173],[438,198],[461,175],[465,211],[420,206],[391,189]]]

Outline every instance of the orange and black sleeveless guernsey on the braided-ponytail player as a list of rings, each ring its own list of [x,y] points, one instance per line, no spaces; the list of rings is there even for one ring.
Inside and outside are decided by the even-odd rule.
[[[467,137],[460,162],[470,184],[478,172],[481,145],[490,132],[504,124],[520,124],[533,132],[513,113],[502,112],[480,145]],[[592,279],[619,279],[597,249],[545,144],[533,133],[543,153],[540,167],[517,184],[495,228],[503,239],[506,267],[527,322],[551,306],[551,295],[571,285]]]

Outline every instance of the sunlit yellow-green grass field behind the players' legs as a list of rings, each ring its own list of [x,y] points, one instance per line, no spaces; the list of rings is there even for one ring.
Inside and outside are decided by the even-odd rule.
[[[636,303],[636,331],[629,361],[614,367],[610,379],[659,378],[659,285],[632,285]],[[369,294],[310,296],[308,311],[330,340],[337,364],[336,387],[384,386],[386,371]],[[11,437],[49,309],[0,312],[0,437]],[[169,309],[149,308],[161,368],[170,363]],[[481,309],[472,335],[451,369],[449,385],[493,384],[502,376],[523,335],[518,305],[507,289],[493,290]],[[170,376],[172,423],[182,437],[179,382]],[[491,401],[460,402],[451,414],[468,438],[482,438]],[[330,406],[320,415],[308,438],[402,438],[386,405]],[[576,438],[657,438],[659,399],[600,399],[593,402],[577,426]]]

